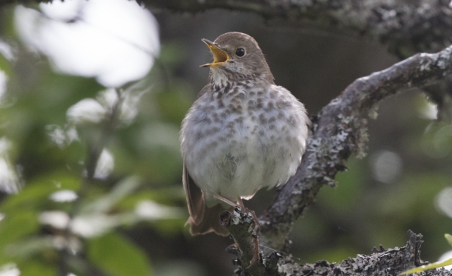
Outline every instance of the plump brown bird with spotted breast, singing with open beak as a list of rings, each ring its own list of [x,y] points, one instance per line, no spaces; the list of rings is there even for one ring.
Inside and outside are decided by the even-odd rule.
[[[220,212],[244,208],[243,199],[295,174],[310,121],[304,104],[275,85],[253,37],[227,32],[202,41],[213,54],[212,63],[201,65],[209,68],[209,81],[180,131],[186,224],[192,235],[226,236]]]

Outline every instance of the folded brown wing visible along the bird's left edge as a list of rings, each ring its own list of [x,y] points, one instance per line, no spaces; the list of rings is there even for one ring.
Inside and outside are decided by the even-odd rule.
[[[199,188],[195,181],[191,178],[189,172],[186,170],[185,160],[184,169],[182,171],[182,184],[184,184],[186,203],[189,206],[189,213],[194,224],[201,223],[206,210],[206,199],[203,196],[203,191]]]

